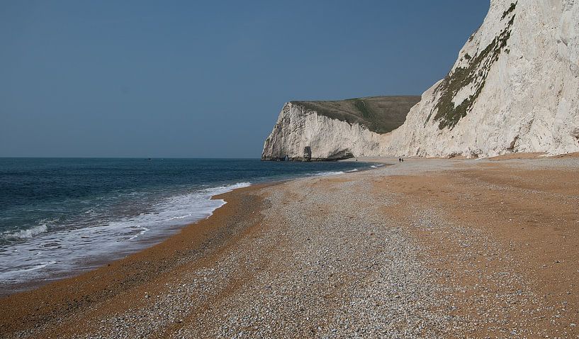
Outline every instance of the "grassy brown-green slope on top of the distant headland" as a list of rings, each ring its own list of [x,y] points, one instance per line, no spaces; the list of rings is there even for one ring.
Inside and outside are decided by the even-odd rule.
[[[339,121],[359,123],[376,133],[388,133],[404,123],[408,111],[419,101],[420,96],[369,96],[337,101],[291,101],[291,104]]]

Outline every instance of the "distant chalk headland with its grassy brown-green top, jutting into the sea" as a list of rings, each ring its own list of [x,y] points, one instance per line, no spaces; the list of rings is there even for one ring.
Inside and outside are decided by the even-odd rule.
[[[340,160],[379,155],[384,133],[405,121],[420,96],[291,101],[264,143],[262,160]]]

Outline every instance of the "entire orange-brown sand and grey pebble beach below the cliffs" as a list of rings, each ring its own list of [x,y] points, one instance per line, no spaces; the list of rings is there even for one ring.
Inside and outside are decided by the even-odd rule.
[[[159,245],[0,299],[0,333],[578,338],[578,155],[380,162],[223,194]]]

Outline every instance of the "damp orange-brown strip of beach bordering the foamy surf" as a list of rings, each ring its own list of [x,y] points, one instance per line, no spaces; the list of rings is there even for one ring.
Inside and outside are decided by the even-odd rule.
[[[155,279],[150,273],[166,273],[170,268],[181,265],[168,263],[174,257],[187,254],[192,256],[191,261],[202,261],[208,252],[219,250],[237,233],[244,231],[239,225],[235,227],[235,221],[243,217],[250,220],[249,214],[259,211],[262,201],[254,192],[278,184],[281,182],[252,184],[212,196],[211,199],[223,199],[226,204],[215,209],[208,218],[184,226],[160,243],[127,257],[103,262],[102,266],[79,275],[0,296],[0,332],[15,332],[25,328],[27,323],[47,321],[58,310],[81,309],[90,304],[101,304],[101,299],[114,299],[128,289]],[[159,267],[162,268],[161,272],[157,271]],[[73,286],[74,289],[69,288]],[[74,302],[71,304],[71,301]],[[40,307],[30,309],[30,304]]]

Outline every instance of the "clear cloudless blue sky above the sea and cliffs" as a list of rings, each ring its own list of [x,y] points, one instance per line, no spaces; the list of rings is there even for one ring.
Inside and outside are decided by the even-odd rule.
[[[422,94],[488,6],[0,1],[0,157],[259,157],[286,101]]]

